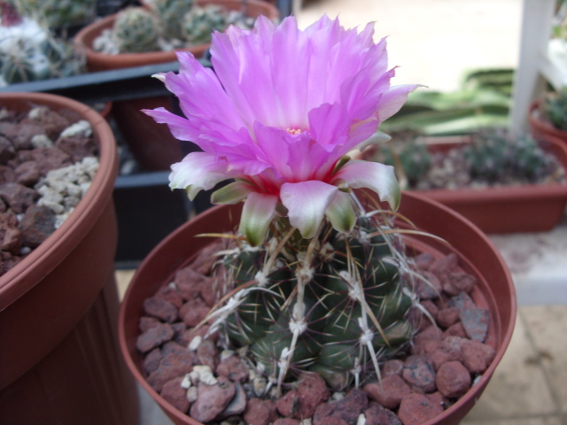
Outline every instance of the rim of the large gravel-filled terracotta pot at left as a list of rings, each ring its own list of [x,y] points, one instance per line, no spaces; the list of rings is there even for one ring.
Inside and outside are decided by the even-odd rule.
[[[79,113],[82,120],[89,121],[100,152],[97,174],[74,212],[34,251],[0,277],[0,311],[34,288],[81,242],[84,234],[76,230],[94,226],[105,210],[108,199],[113,196],[113,182],[118,175],[118,152],[113,131],[100,113],[74,99],[49,93],[0,93],[0,104],[9,105],[12,102],[21,105],[17,109],[25,104],[37,104]],[[44,268],[47,259],[50,261],[50,270]]]

